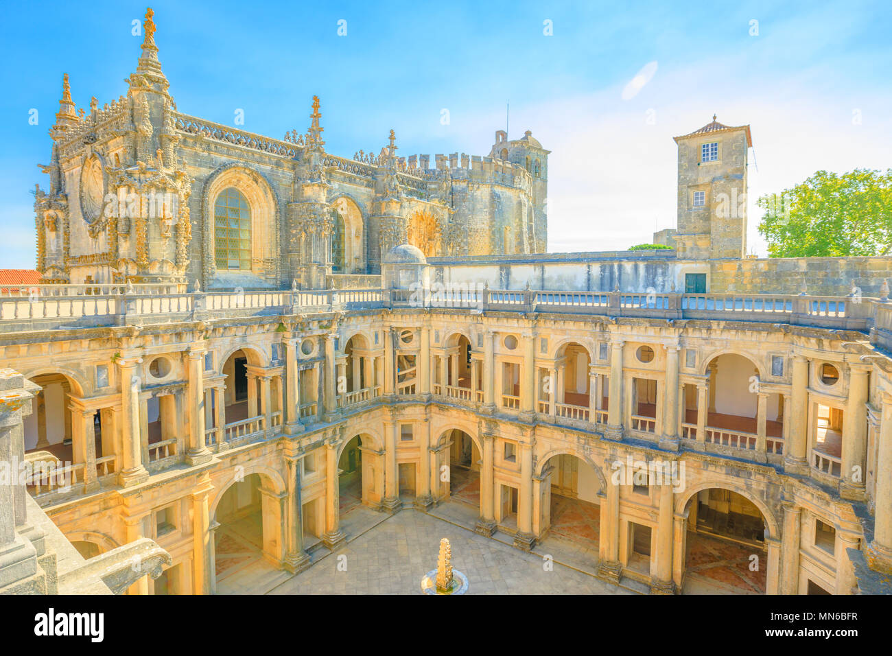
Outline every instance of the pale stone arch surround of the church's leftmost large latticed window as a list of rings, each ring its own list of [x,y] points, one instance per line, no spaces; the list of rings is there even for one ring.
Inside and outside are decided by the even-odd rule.
[[[242,162],[227,162],[211,173],[205,181],[202,193],[202,264],[203,284],[207,289],[217,274],[214,259],[214,203],[221,191],[235,187],[248,201],[251,208],[250,273],[259,278],[278,277],[279,262],[279,203],[274,187],[257,170]],[[264,262],[273,262],[266,264]],[[274,267],[274,270],[269,270]]]

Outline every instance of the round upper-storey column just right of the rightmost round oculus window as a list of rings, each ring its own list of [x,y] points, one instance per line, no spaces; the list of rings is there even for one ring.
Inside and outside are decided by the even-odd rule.
[[[864,498],[869,375],[868,367],[849,365],[848,403],[842,425],[842,465],[839,480],[839,495],[844,499]]]

